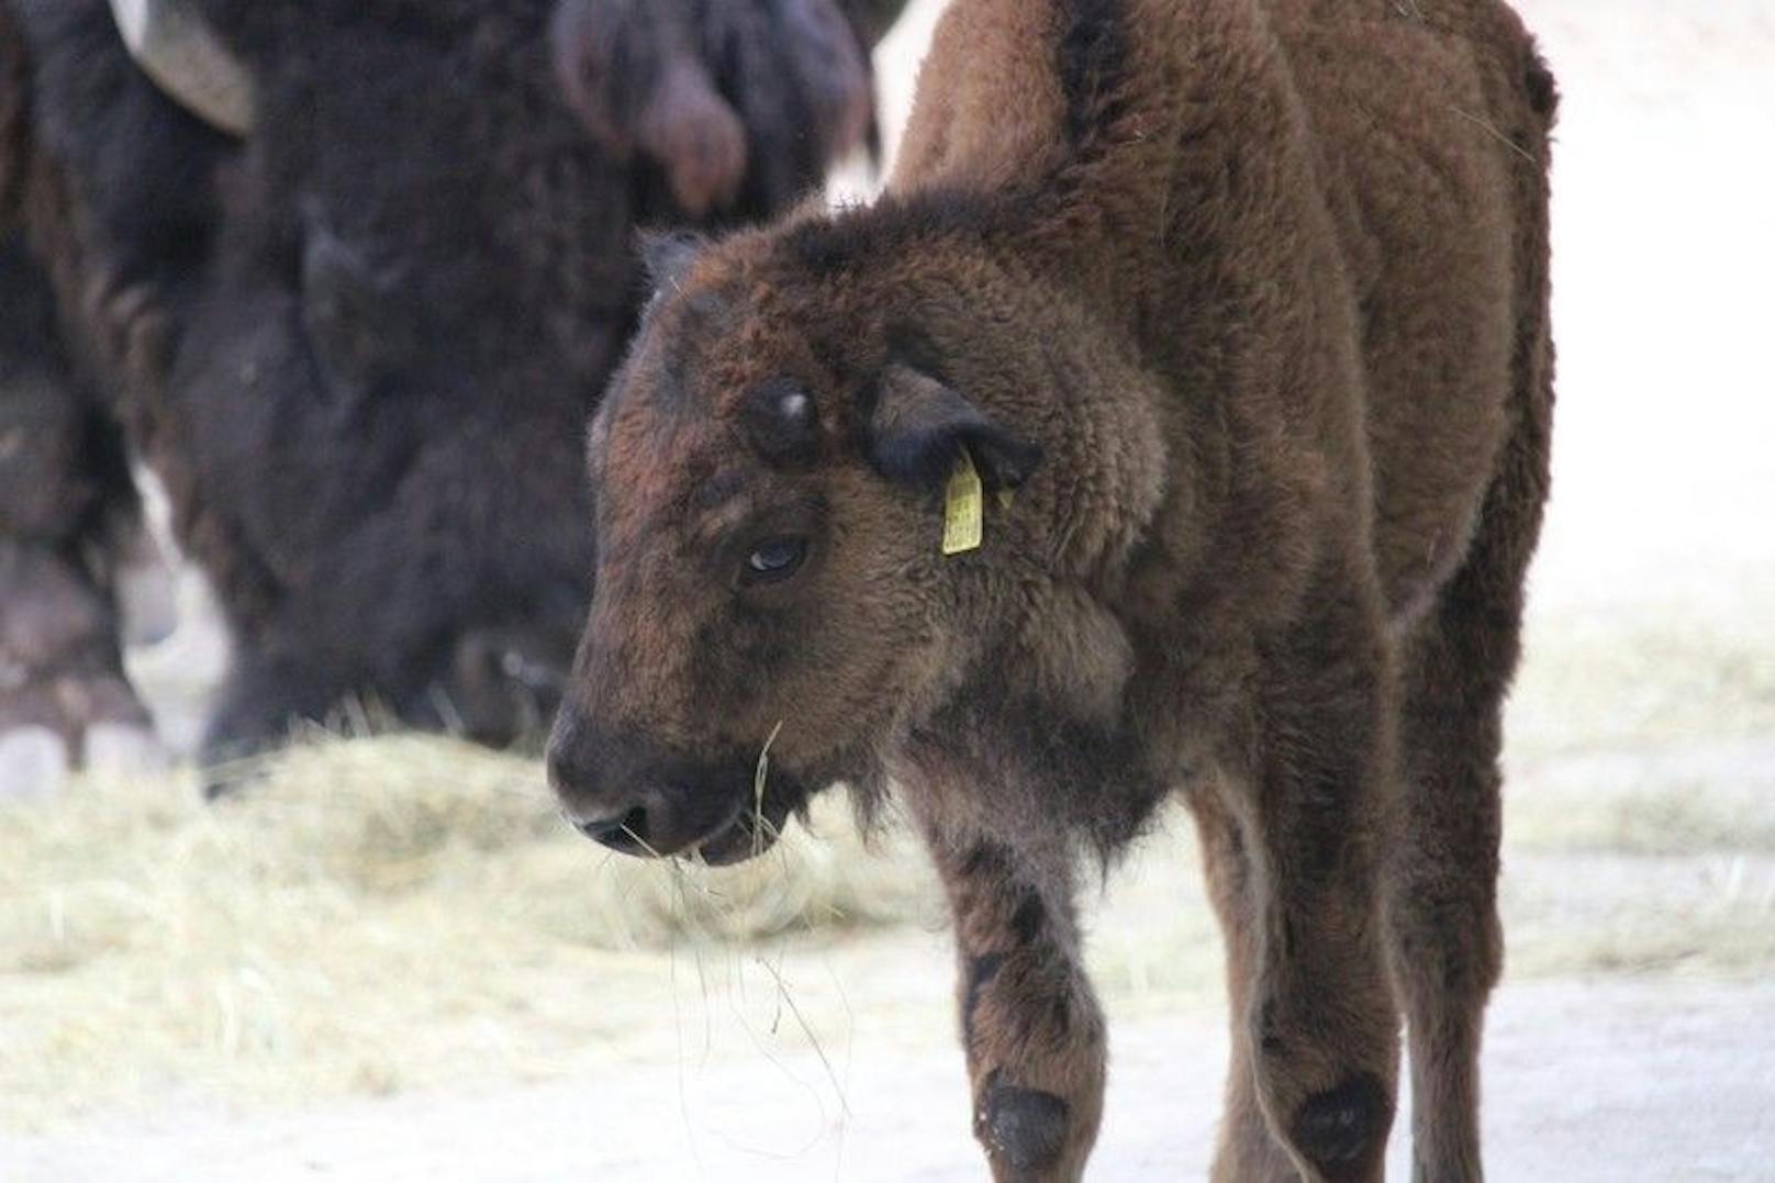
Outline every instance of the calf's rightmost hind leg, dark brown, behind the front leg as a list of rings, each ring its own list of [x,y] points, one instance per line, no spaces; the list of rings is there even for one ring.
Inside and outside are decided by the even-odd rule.
[[[1484,1178],[1479,1044],[1503,968],[1498,922],[1503,698],[1546,496],[1546,412],[1507,446],[1463,568],[1406,650],[1400,833],[1388,867],[1393,981],[1411,1048],[1413,1176]]]

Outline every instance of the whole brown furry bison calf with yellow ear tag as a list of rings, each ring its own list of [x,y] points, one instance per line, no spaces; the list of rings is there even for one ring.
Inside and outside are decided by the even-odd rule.
[[[1216,1178],[1379,1178],[1399,1011],[1416,1176],[1479,1178],[1551,114],[1495,0],[957,0],[873,208],[657,250],[593,425],[568,814],[728,861],[896,783],[994,1176],[1070,1179],[1074,869],[1179,792],[1230,949]]]

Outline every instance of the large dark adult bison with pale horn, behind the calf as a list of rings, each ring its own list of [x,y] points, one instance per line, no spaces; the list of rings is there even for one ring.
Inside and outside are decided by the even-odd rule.
[[[493,742],[547,718],[635,226],[799,197],[870,133],[880,16],[0,0],[0,737],[147,721],[131,453],[233,634],[211,751],[351,693]]]

